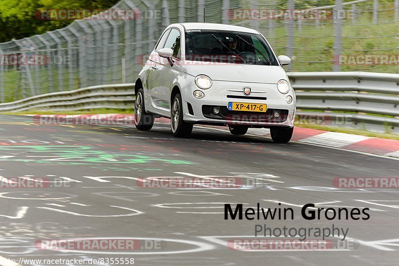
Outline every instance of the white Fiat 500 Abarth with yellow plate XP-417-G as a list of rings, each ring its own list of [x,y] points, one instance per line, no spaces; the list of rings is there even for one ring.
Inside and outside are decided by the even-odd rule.
[[[228,126],[234,135],[249,127],[270,128],[275,142],[291,139],[296,98],[265,37],[250,28],[171,24],[163,32],[135,83],[136,127],[150,130],[155,116],[171,118],[176,137],[194,124]]]

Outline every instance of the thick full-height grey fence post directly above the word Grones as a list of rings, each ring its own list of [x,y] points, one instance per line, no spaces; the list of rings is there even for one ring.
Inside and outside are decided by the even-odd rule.
[[[335,1],[334,8],[334,57],[333,71],[341,71],[339,56],[342,50],[342,16],[343,16],[343,0]]]

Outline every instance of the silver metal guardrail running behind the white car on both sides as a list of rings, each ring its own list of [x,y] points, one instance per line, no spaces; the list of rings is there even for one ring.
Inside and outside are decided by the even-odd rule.
[[[399,74],[291,72],[298,122],[399,133]],[[0,111],[133,108],[134,84],[92,86],[2,103]]]

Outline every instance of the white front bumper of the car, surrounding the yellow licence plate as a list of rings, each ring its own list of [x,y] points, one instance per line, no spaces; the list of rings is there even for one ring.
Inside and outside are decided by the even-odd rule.
[[[243,87],[250,87],[253,91],[249,97],[245,96]],[[249,127],[293,127],[295,118],[296,98],[290,89],[287,94],[281,94],[276,84],[248,83],[232,81],[212,81],[209,89],[201,90],[204,97],[197,99],[193,96],[195,90],[201,90],[191,85],[182,90],[184,120],[189,123],[215,125],[246,125]],[[285,97],[290,95],[292,103],[287,104]],[[244,96],[244,97],[243,97]],[[254,99],[256,98],[256,99]],[[247,112],[228,110],[228,102],[264,103],[266,112]],[[214,107],[219,113],[212,112]],[[275,117],[274,113],[278,112]]]

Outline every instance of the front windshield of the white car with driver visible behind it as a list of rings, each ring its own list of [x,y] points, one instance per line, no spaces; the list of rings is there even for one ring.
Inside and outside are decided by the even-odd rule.
[[[186,60],[278,65],[260,34],[227,30],[186,30]]]

